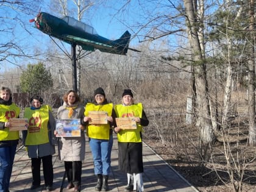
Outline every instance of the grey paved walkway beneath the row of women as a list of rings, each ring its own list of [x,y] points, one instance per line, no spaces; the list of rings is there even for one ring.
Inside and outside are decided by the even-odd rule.
[[[82,186],[81,191],[94,191],[96,185],[96,176],[94,176],[93,159],[91,151],[86,142],[85,161],[82,165]],[[66,191],[65,187],[68,185],[65,179],[65,169],[63,162],[60,162],[55,154],[52,158],[54,163],[54,190]],[[198,192],[196,188],[190,185],[187,180],[183,179],[174,169],[165,163],[162,158],[155,154],[149,146],[143,143],[143,162],[144,162],[144,191],[155,192]],[[27,157],[27,152],[21,148],[15,155],[15,162],[13,165],[12,178],[10,180],[10,191],[21,192],[30,191],[32,183],[32,173],[30,168],[30,159]],[[127,185],[126,174],[118,170],[118,148],[117,141],[114,138],[112,149],[112,172],[109,176],[110,191],[124,191]],[[46,191],[43,185],[43,173],[41,171],[41,188],[36,191]]]

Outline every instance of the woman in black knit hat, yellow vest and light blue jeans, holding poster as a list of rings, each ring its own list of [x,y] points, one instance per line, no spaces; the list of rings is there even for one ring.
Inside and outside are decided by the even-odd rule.
[[[104,90],[99,87],[94,91],[94,102],[87,103],[84,113],[84,124],[93,154],[94,174],[98,177],[96,191],[108,191],[110,158],[113,146],[115,111],[113,104],[108,103]]]

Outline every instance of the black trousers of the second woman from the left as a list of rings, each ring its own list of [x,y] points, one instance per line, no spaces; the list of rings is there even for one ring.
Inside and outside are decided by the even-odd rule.
[[[31,158],[31,168],[32,168],[32,177],[33,182],[32,185],[40,185],[41,177],[40,177],[40,166],[41,160],[43,162],[43,177],[45,186],[52,186],[53,183],[53,168],[52,168],[52,155],[39,157],[39,158]]]

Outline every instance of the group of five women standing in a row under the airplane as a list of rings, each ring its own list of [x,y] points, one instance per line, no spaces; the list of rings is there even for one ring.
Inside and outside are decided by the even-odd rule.
[[[40,187],[40,165],[43,162],[43,175],[46,190],[52,191],[54,173],[52,155],[55,144],[58,146],[59,159],[64,162],[68,179],[67,189],[80,191],[82,161],[85,159],[85,130],[93,155],[94,174],[97,177],[96,191],[108,191],[110,175],[113,132],[118,138],[118,161],[121,171],[127,174],[126,191],[143,191],[143,126],[149,121],[141,103],[135,104],[132,91],[127,89],[122,94],[122,104],[113,105],[107,101],[104,90],[99,87],[94,91],[94,102],[85,106],[74,90],[63,96],[63,105],[59,107],[57,119],[80,119],[80,136],[55,137],[55,119],[49,105],[43,104],[40,96],[30,98],[31,107],[24,110],[28,119],[28,129],[23,130],[23,144],[31,158],[32,186]],[[93,124],[90,112],[107,113],[107,124]],[[10,118],[19,118],[20,108],[12,102],[9,88],[0,90],[0,192],[8,192],[10,176],[19,140],[18,131],[10,131]],[[133,117],[136,129],[122,129],[116,125],[116,118]]]

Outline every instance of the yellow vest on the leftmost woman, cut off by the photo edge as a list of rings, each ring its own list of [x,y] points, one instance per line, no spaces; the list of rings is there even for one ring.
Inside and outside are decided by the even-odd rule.
[[[0,105],[0,121],[7,122],[10,118],[18,118],[20,115],[20,108],[16,104]],[[18,140],[18,131],[9,131],[9,127],[0,130],[0,141]]]

